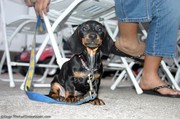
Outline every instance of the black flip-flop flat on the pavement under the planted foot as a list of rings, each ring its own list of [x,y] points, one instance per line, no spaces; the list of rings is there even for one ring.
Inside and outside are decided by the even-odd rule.
[[[161,96],[161,97],[180,98],[180,95],[160,94],[157,90],[162,89],[162,88],[172,89],[170,85],[165,85],[165,86],[158,86],[150,90],[143,90],[143,93],[148,94],[148,95]]]

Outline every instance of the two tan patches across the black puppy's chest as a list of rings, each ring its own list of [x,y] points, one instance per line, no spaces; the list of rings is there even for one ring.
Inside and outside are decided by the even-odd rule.
[[[89,75],[88,72],[80,72],[80,71],[75,71],[74,72],[74,77],[75,78],[87,78]],[[94,74],[94,79],[99,79],[100,78],[100,73],[95,73]]]

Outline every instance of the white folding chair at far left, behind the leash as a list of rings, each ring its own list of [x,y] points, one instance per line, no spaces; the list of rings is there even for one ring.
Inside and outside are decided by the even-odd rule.
[[[12,72],[12,66],[29,66],[29,63],[20,63],[20,62],[13,62],[11,61],[10,58],[10,50],[9,47],[11,45],[12,40],[18,33],[33,33],[35,29],[35,24],[36,24],[36,18],[33,16],[27,16],[27,15],[20,15],[17,18],[9,21],[8,23],[5,20],[5,15],[4,15],[4,8],[3,8],[3,1],[1,2],[1,12],[2,12],[2,21],[3,21],[3,33],[4,33],[4,42],[5,42],[5,53],[3,54],[1,58],[1,63],[0,63],[0,73],[3,67],[3,64],[5,62],[5,59],[7,60],[7,66],[8,66],[8,75],[9,79],[1,79],[2,81],[9,81],[10,82],[10,87],[15,86],[15,82],[22,82],[22,79],[14,79],[13,77],[13,72]],[[12,29],[14,32],[11,34],[9,38],[7,38],[6,34],[6,29]],[[37,64],[39,67],[46,67],[46,71],[43,74],[42,78],[39,80],[36,80],[36,82],[41,82],[44,80],[48,74],[48,68],[58,68],[56,65],[53,64],[53,60],[55,58],[52,57],[50,61],[50,65],[45,65],[45,64]]]

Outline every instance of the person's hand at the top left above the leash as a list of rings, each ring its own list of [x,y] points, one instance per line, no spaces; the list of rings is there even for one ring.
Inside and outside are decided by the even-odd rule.
[[[41,16],[43,18],[43,13],[47,15],[47,12],[49,10],[49,3],[50,0],[24,0],[26,5],[28,7],[34,7],[36,14]]]

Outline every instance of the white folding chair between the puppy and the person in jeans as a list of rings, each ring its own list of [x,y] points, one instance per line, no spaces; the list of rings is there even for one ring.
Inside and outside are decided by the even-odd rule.
[[[116,27],[109,28],[110,25],[108,25],[108,24],[111,24],[111,27],[113,25],[115,25]],[[106,22],[105,26],[106,26],[108,32],[110,33],[110,36],[112,37],[112,39],[114,39],[114,41],[115,41],[117,34],[118,34],[117,21]],[[119,59],[120,59],[120,62],[119,62]],[[111,61],[109,61],[106,64],[106,66],[108,68],[110,68],[110,69],[115,68],[117,72],[120,72],[113,77],[113,84],[110,87],[111,90],[115,90],[116,87],[127,87],[127,86],[133,85],[136,89],[137,94],[142,93],[142,89],[139,87],[139,84],[138,84],[139,78],[138,78],[138,76],[135,77],[135,75],[133,74],[133,71],[131,69],[134,64],[135,64],[134,61],[132,61],[130,59],[128,60],[125,57],[116,57],[115,60],[111,59]],[[131,80],[130,84],[124,85],[122,82],[124,78],[130,79]]]

